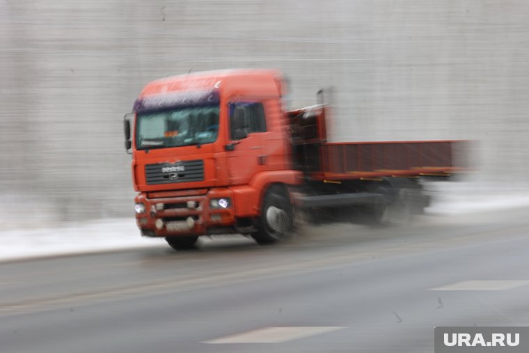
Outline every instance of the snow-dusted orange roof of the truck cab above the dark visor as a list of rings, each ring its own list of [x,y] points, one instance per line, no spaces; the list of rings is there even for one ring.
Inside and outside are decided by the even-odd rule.
[[[141,91],[139,99],[171,91],[207,89],[241,93],[248,90],[253,93],[278,95],[282,89],[281,73],[273,69],[230,69],[179,74],[149,82]],[[255,92],[256,90],[259,92]]]

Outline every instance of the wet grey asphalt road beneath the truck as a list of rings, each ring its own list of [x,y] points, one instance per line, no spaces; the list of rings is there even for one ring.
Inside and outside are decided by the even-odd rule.
[[[529,326],[528,214],[6,262],[0,351],[433,352],[436,326]]]

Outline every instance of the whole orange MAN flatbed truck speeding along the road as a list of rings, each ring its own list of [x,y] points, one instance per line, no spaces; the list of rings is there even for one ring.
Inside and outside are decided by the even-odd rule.
[[[271,244],[300,218],[402,221],[428,204],[421,176],[462,169],[464,141],[327,142],[329,107],[285,111],[286,93],[276,70],[147,84],[124,120],[141,234],[180,250],[230,233]]]

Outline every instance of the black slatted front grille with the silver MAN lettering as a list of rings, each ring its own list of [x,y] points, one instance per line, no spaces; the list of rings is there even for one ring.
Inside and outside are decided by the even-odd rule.
[[[204,180],[204,161],[147,164],[145,165],[145,179],[148,185],[199,182]]]

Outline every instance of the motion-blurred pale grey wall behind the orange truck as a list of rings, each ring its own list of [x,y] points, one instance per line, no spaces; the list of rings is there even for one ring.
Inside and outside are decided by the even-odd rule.
[[[476,140],[476,172],[452,193],[526,194],[528,13],[524,0],[0,0],[0,226],[132,219],[123,115],[152,79],[221,68],[282,70],[293,108],[332,87],[333,141]]]

